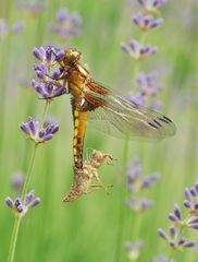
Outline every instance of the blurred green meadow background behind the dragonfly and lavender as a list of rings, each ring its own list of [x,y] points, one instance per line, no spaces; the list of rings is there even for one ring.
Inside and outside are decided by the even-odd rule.
[[[138,38],[132,24],[138,4],[136,0],[69,0],[46,1],[46,9],[37,15],[17,9],[15,1],[0,2],[0,16],[9,25],[25,22],[25,29],[0,41],[0,261],[5,261],[13,227],[13,215],[4,204],[7,195],[15,196],[11,176],[27,170],[33,144],[24,138],[20,122],[28,116],[39,117],[44,102],[30,87],[34,78],[32,55],[34,47],[65,46],[48,25],[60,8],[77,11],[83,34],[71,43],[83,52],[83,62],[92,76],[106,86],[126,94],[133,90],[133,61],[120,44]],[[137,217],[123,202],[123,234],[119,237],[122,159],[124,143],[88,128],[86,147],[112,154],[114,166],[103,166],[102,180],[113,188],[82,196],[74,203],[62,203],[73,177],[72,112],[70,97],[55,99],[49,116],[60,124],[53,141],[40,146],[34,167],[32,188],[41,198],[41,204],[24,218],[16,248],[15,261],[127,261],[124,242],[141,238],[145,246],[139,262],[152,261],[154,255],[169,254],[170,248],[158,236],[159,227],[169,228],[168,214],[174,203],[183,202],[184,187],[190,187],[198,176],[198,92],[197,92],[197,12],[196,1],[170,1],[162,13],[165,24],[148,34],[149,44],[159,46],[159,53],[144,62],[141,70],[159,69],[165,88],[161,94],[162,111],[171,117],[177,133],[160,143],[129,143],[128,162],[140,158],[145,174],[161,174],[158,184],[147,192],[154,206]],[[125,176],[125,175],[124,175]],[[137,226],[138,225],[138,226]],[[196,240],[196,234],[189,235]],[[120,250],[120,260],[117,259]],[[197,262],[197,251],[186,250],[176,255],[180,262]]]

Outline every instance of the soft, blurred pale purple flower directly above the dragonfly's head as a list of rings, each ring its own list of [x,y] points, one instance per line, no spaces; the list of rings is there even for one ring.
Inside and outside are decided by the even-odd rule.
[[[55,23],[50,24],[49,28],[62,39],[66,39],[81,34],[81,24],[82,17],[76,12],[71,13],[66,9],[60,9],[55,15]]]

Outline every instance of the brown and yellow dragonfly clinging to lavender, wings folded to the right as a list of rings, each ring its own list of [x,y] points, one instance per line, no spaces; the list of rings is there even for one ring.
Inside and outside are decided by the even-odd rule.
[[[53,79],[54,85],[65,87],[66,93],[71,94],[74,168],[83,169],[88,120],[99,130],[119,138],[161,140],[175,134],[175,124],[170,118],[128,102],[97,83],[81,64],[81,57],[82,53],[73,48],[65,49],[63,58],[55,57],[61,73]]]

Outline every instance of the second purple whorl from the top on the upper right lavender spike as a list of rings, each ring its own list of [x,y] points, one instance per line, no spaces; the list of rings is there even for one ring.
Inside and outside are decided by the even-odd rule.
[[[163,19],[154,19],[152,15],[138,13],[133,17],[133,22],[139,26],[141,31],[149,31],[161,26],[163,24]]]

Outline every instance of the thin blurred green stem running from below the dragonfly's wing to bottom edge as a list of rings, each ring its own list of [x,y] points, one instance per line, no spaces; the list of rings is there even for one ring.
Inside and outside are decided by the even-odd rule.
[[[124,225],[124,191],[125,191],[125,172],[128,160],[128,139],[125,139],[124,151],[123,151],[123,171],[121,174],[121,193],[120,193],[120,203],[119,203],[119,226],[116,234],[116,249],[115,249],[115,262],[119,262],[121,259],[121,246],[123,238],[123,225]]]

